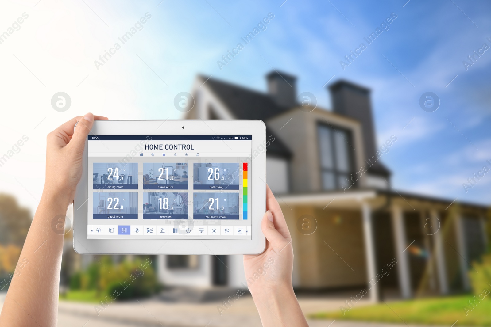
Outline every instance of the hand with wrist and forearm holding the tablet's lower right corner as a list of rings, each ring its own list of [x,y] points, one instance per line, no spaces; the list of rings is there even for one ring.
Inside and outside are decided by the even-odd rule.
[[[308,326],[293,292],[293,246],[281,207],[266,186],[266,213],[261,228],[266,250],[244,255],[246,282],[263,326]]]

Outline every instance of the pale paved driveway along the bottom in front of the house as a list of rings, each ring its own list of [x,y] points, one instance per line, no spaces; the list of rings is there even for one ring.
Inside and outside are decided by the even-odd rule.
[[[5,293],[0,293],[0,305]],[[344,297],[299,297],[305,315],[320,310],[337,310]],[[97,312],[94,304],[81,302],[59,303],[58,326],[70,327],[261,327],[261,321],[250,296],[241,297],[229,309],[218,312],[220,302],[185,303],[163,302],[157,299],[132,302],[112,302]],[[366,305],[370,302],[358,302]],[[288,322],[284,322],[288,326]],[[408,327],[377,323],[309,320],[310,327]],[[281,324],[279,324],[281,326]],[[419,326],[421,327],[421,326]]]

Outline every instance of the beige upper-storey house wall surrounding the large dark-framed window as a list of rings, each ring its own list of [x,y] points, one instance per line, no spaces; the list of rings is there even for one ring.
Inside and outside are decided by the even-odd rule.
[[[285,125],[286,122],[288,123]],[[352,146],[355,148],[353,151],[354,168],[357,171],[361,166],[365,166],[361,126],[354,120],[323,109],[315,109],[306,113],[294,108],[266,122],[274,134],[294,152],[290,174],[293,192],[322,191],[317,124],[327,124],[326,122],[332,126],[351,130]],[[365,175],[362,175],[359,180],[360,186],[366,184]]]

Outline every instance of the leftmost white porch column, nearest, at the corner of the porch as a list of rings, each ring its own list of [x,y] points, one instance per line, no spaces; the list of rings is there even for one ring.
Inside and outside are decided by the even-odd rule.
[[[363,203],[362,207],[362,222],[363,222],[363,235],[365,240],[365,258],[367,263],[367,281],[368,286],[371,289],[368,291],[370,294],[370,300],[378,302],[380,299],[380,285],[376,283],[371,285],[370,281],[376,277],[376,256],[375,256],[375,237],[373,234],[373,219],[372,210],[368,203]]]

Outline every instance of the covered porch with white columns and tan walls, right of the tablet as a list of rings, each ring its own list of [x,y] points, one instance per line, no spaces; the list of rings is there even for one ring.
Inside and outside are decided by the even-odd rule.
[[[298,290],[354,289],[372,301],[459,293],[487,244],[485,206],[380,190],[276,199]]]

